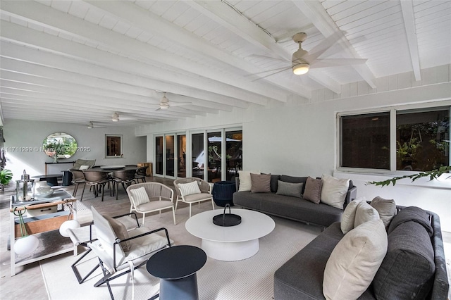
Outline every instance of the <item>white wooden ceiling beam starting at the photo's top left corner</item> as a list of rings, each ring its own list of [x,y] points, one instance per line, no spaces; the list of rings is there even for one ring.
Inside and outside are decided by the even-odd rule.
[[[248,85],[246,82],[243,82],[243,80],[236,77],[216,72],[216,70],[212,70],[211,68],[202,68],[199,64],[175,54],[171,54],[169,51],[163,51],[149,44],[142,43],[137,39],[121,35],[118,32],[108,30],[94,23],[81,20],[73,15],[56,11],[49,6],[34,1],[27,3],[26,6],[20,3],[15,4],[14,2],[7,2],[8,4],[5,6],[2,4],[2,9],[4,11],[8,11],[8,13],[12,13],[16,17],[23,18],[28,22],[44,24],[73,37],[83,37],[96,43],[100,42],[106,47],[116,49],[121,54],[141,57],[148,61],[164,62],[166,65],[171,65],[171,67],[176,70],[185,70],[186,72],[209,78],[210,81],[214,80],[218,83],[221,82],[223,85],[230,85],[247,92],[252,92],[253,94],[259,94],[260,97],[249,96],[248,101],[252,101],[254,104],[266,105],[266,99],[268,98],[286,101],[285,95],[276,93],[274,90],[270,91],[265,89],[264,91],[261,91],[257,88],[258,84]],[[7,28],[7,30],[8,29],[9,28]],[[175,79],[176,76],[171,75],[171,77]],[[192,82],[192,84],[193,83],[194,82]],[[195,87],[196,85],[193,86]],[[224,89],[227,90],[226,88]]]

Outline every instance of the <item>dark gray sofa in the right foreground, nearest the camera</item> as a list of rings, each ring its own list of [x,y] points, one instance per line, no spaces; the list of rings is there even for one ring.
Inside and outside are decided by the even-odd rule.
[[[404,213],[400,213],[402,209]],[[426,217],[417,218],[421,211],[397,206],[397,215],[387,227],[388,252],[359,299],[447,299],[449,283],[440,220],[430,211],[424,211]],[[344,236],[340,223],[333,223],[276,270],[274,299],[325,299],[326,263]]]

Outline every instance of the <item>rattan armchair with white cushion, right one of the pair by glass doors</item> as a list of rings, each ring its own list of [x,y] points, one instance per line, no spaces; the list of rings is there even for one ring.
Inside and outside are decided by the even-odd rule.
[[[211,201],[214,209],[213,196],[211,195],[211,185],[197,177],[178,178],[174,180],[175,191],[177,192],[177,201],[175,201],[175,211],[177,211],[178,201],[190,204],[190,218],[191,218],[191,204],[202,201]]]

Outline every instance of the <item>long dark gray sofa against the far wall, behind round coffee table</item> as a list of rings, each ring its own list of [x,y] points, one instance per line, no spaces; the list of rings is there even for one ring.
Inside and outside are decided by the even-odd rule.
[[[350,187],[342,209],[323,203],[315,204],[303,198],[299,199],[293,196],[276,194],[278,180],[290,183],[303,183],[303,194],[307,177],[271,175],[271,193],[235,192],[233,193],[233,204],[303,223],[328,227],[334,222],[340,222],[343,209],[357,197],[357,187],[354,187],[352,181],[350,181]],[[235,178],[235,182],[238,191],[240,187],[239,177]]]

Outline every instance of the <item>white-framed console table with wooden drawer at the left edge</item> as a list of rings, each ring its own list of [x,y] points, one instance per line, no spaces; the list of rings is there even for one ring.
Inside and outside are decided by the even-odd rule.
[[[59,233],[61,224],[68,220],[70,213],[68,204],[73,205],[73,218],[76,218],[76,201],[66,191],[58,190],[49,198],[35,199],[34,201],[16,202],[16,196],[11,196],[10,202],[10,251],[11,251],[11,276],[16,275],[16,266],[34,263],[44,258],[49,258],[66,252],[74,251],[77,254],[77,247],[69,238],[63,237]],[[56,212],[46,213],[35,217],[23,217],[28,235],[36,235],[39,239],[38,248],[26,256],[18,256],[14,252],[16,238],[20,237],[20,222],[13,211],[23,211],[25,209],[48,209],[56,206]]]

